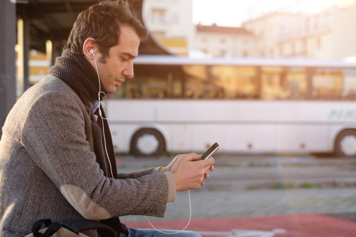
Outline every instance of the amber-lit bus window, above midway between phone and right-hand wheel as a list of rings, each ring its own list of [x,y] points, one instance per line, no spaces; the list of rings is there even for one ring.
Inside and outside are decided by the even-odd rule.
[[[307,98],[307,91],[304,67],[261,67],[261,99],[303,100]]]

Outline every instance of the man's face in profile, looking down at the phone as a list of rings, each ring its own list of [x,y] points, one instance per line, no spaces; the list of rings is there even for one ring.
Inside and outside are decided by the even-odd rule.
[[[99,62],[101,54],[98,55],[96,60],[98,73],[101,86],[106,93],[114,93],[116,87],[125,82],[126,77],[134,77],[133,62],[138,55],[139,45],[140,38],[135,30],[128,26],[121,26],[119,42],[109,49],[106,63]]]

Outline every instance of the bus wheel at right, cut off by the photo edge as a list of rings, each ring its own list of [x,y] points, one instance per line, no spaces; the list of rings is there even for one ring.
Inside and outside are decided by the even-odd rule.
[[[356,129],[341,131],[336,137],[334,150],[337,156],[356,156]]]

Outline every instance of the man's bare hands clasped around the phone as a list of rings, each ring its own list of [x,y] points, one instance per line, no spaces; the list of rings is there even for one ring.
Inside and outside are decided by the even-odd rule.
[[[213,157],[203,161],[199,159],[200,155],[196,153],[179,154],[160,172],[170,171],[173,174],[177,191],[197,189],[204,185],[204,178],[209,178],[207,171],[214,171],[215,163]]]

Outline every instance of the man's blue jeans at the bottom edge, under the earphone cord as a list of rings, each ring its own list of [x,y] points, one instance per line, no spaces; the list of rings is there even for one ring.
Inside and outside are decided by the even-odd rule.
[[[159,232],[156,229],[134,229],[127,227],[129,230],[129,237],[169,237],[169,236],[179,236],[179,237],[202,237],[199,233],[196,233],[194,231],[190,230],[184,230],[180,231],[179,230],[171,230],[171,229],[160,229],[160,231],[165,232]],[[174,233],[178,232],[178,233]],[[170,234],[167,234],[170,233]],[[117,237],[125,237],[125,234],[123,233],[118,233]]]

